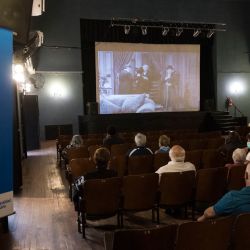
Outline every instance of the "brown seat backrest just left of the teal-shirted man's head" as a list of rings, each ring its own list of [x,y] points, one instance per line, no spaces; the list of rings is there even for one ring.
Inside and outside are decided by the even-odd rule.
[[[240,190],[245,184],[246,165],[230,167],[228,169],[227,190]]]

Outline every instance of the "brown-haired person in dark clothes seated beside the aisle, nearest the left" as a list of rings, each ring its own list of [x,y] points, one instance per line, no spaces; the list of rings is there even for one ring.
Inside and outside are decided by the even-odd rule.
[[[109,150],[104,147],[98,148],[94,154],[94,162],[96,164],[96,169],[94,171],[88,172],[84,176],[79,177],[75,181],[73,188],[73,201],[76,211],[78,211],[78,202],[84,181],[91,179],[106,179],[117,176],[117,173],[114,170],[108,169],[109,160]]]

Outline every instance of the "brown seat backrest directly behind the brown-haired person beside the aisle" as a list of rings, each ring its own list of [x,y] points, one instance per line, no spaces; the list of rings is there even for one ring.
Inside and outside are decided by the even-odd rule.
[[[84,211],[89,215],[114,214],[119,209],[120,177],[87,180],[83,185]]]

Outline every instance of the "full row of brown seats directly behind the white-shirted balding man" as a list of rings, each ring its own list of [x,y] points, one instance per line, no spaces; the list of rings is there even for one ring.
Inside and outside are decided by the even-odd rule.
[[[212,168],[194,171],[164,173],[159,182],[158,174],[128,175],[84,182],[81,223],[85,237],[86,219],[98,219],[117,214],[118,226],[123,226],[123,214],[127,211],[152,209],[152,221],[160,223],[159,208],[184,207],[195,211],[214,204],[230,189],[241,189],[245,167]],[[72,180],[75,178],[71,172]],[[72,185],[72,182],[70,182]],[[78,230],[80,231],[80,221]]]

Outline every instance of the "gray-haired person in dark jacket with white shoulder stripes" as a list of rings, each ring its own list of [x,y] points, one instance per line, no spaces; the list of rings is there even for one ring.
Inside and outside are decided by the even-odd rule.
[[[135,136],[136,147],[129,151],[128,157],[139,156],[139,155],[153,155],[150,148],[146,147],[147,137],[144,134],[138,133]]]

